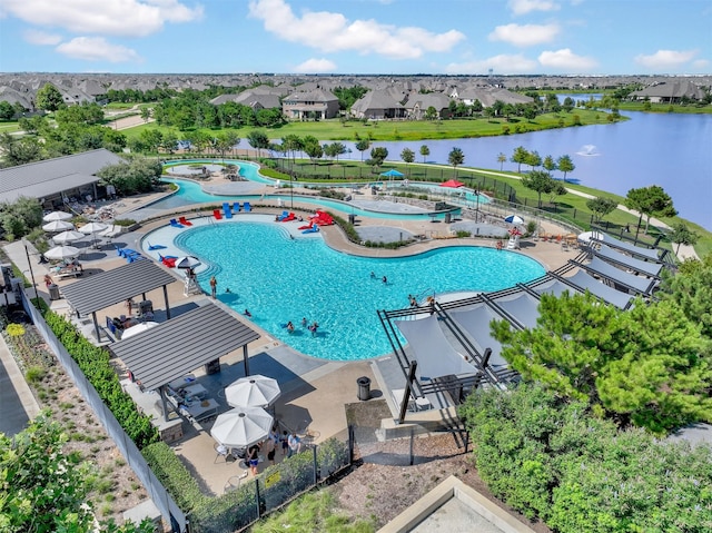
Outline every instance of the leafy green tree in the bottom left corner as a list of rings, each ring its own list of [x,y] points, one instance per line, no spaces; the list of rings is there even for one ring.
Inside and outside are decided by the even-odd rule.
[[[1,529],[8,533],[72,532],[130,533],[154,531],[145,521],[122,526],[95,526],[88,502],[91,465],[65,455],[68,441],[57,423],[41,413],[14,437],[0,433],[0,475],[3,480]]]

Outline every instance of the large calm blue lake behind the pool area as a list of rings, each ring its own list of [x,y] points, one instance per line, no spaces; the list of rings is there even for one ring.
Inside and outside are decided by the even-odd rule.
[[[419,148],[426,145],[431,150],[427,160],[444,165],[453,147],[458,147],[465,166],[491,169],[500,169],[497,155],[502,152],[507,156],[504,170],[513,171],[517,165],[508,159],[518,146],[538,151],[542,158],[568,155],[576,169],[567,179],[620,196],[632,188],[659,185],[672,197],[682,218],[712,230],[712,115],[622,115],[630,120],[478,139],[378,141],[373,146],[387,148],[393,161],[400,161],[400,151],[409,148],[416,161],[422,161]],[[354,142],[344,145],[352,149],[348,157],[360,159]],[[554,171],[554,177],[561,172]]]

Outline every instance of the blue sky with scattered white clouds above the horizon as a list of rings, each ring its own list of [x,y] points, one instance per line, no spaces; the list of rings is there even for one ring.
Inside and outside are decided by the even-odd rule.
[[[712,72],[712,0],[0,0],[1,72]]]

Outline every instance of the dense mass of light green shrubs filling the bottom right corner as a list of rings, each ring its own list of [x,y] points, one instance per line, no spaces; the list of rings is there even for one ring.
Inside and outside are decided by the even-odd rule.
[[[561,533],[712,531],[712,452],[619,431],[534,385],[476,391],[459,414],[490,490]]]

